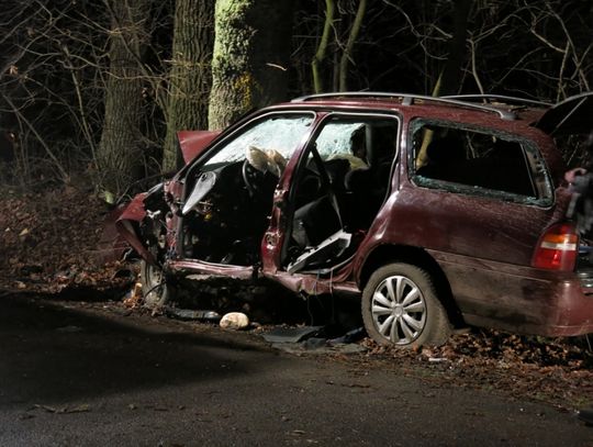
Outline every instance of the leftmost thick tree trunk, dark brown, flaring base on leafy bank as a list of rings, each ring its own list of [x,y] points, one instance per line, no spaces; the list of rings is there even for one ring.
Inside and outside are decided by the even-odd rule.
[[[97,186],[110,201],[142,168],[142,55],[149,0],[104,0],[112,14],[105,116],[97,150]]]

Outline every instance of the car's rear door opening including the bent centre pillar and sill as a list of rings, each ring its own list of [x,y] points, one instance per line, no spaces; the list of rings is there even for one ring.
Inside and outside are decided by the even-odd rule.
[[[358,293],[351,276],[390,188],[399,121],[369,113],[327,114],[276,191],[264,275],[296,292]]]

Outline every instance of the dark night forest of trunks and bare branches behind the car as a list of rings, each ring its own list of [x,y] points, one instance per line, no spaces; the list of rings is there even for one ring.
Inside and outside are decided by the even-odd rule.
[[[176,131],[311,92],[590,90],[588,0],[4,0],[0,185],[108,202],[179,164]]]

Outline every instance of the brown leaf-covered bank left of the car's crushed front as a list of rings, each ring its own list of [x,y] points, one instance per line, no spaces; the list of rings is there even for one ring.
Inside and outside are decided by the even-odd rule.
[[[103,265],[98,250],[108,212],[86,187],[0,191],[0,286],[55,293],[118,282],[121,265]]]

